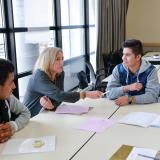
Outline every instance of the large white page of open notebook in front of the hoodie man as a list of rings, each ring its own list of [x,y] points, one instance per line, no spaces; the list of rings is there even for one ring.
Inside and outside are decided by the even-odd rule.
[[[147,112],[130,112],[119,123],[137,125],[142,127],[148,127],[151,122],[157,117],[157,114]]]

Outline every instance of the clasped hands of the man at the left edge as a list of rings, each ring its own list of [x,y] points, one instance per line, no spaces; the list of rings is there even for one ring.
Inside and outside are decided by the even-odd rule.
[[[0,143],[6,142],[12,136],[11,125],[7,123],[0,123]]]

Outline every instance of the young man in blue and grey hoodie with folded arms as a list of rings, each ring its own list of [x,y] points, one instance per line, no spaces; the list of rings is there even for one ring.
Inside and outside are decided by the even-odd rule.
[[[158,102],[159,82],[156,68],[142,58],[140,40],[123,43],[123,63],[117,65],[107,85],[109,99],[119,106]]]

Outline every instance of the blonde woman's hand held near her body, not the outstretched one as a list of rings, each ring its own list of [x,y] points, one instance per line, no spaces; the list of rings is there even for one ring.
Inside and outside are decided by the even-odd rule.
[[[53,109],[54,108],[54,105],[52,104],[51,100],[47,96],[41,97],[40,104],[45,109]]]

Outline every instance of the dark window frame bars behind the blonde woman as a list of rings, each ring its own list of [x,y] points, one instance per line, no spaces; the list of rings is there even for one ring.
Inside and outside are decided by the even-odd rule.
[[[55,39],[56,39],[56,46],[62,48],[62,30],[64,29],[84,29],[84,57],[85,61],[90,60],[90,44],[89,44],[89,28],[95,27],[94,24],[89,25],[89,0],[83,0],[84,2],[84,24],[83,25],[68,25],[68,26],[62,26],[61,25],[61,7],[60,7],[60,0],[53,0],[54,3],[54,25],[49,26],[50,31],[55,31]],[[18,85],[18,79],[23,78],[25,76],[31,75],[32,71],[28,70],[25,72],[18,73],[17,70],[17,58],[16,58],[16,42],[15,42],[15,33],[18,32],[28,32],[27,27],[14,27],[14,18],[13,18],[13,6],[12,6],[12,0],[1,0],[3,4],[3,12],[4,16],[4,22],[5,26],[4,28],[0,28],[0,33],[3,33],[6,35],[6,58],[9,59],[14,67],[15,67],[15,84],[16,89],[14,91],[14,94],[16,97],[19,98],[19,85]],[[79,56],[78,56],[79,57]],[[74,62],[77,60],[78,57],[70,58],[64,62],[64,65]],[[87,68],[86,68],[87,69]],[[89,73],[88,70],[86,70],[87,73]]]

